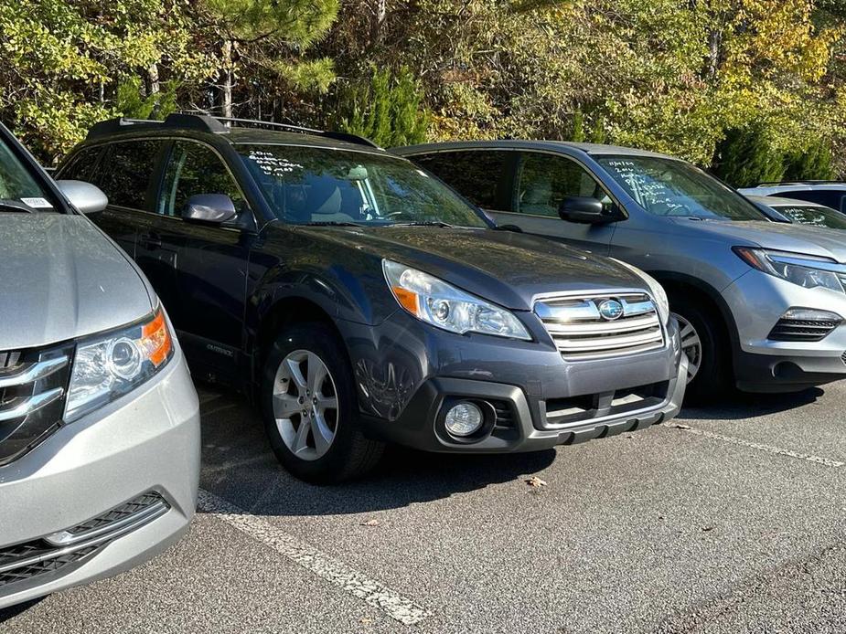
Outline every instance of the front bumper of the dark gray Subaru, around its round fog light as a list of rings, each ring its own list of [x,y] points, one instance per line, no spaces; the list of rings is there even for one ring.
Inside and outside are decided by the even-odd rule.
[[[517,452],[604,438],[675,417],[687,357],[678,325],[643,354],[566,362],[552,344],[442,333],[405,313],[357,336],[350,354],[370,438],[441,452]],[[349,333],[347,333],[349,334]],[[443,424],[455,400],[489,412],[474,442]]]

